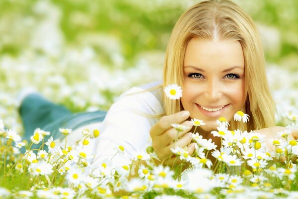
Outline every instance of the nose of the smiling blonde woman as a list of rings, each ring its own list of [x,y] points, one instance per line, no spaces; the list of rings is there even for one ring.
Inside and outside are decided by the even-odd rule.
[[[209,80],[207,81],[206,90],[205,90],[205,98],[209,101],[217,101],[222,98],[222,85],[217,80]]]

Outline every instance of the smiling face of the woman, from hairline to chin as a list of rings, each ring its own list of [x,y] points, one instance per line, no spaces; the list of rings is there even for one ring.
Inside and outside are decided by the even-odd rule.
[[[192,38],[184,57],[184,110],[201,119],[204,131],[218,126],[216,120],[230,121],[245,102],[244,57],[240,42]]]

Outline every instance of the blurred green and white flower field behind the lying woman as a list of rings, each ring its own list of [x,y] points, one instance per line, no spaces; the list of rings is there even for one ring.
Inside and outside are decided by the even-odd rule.
[[[0,0],[0,118],[22,131],[24,88],[77,112],[160,80],[171,30],[199,1]],[[298,121],[298,1],[233,1],[261,32],[278,124]]]

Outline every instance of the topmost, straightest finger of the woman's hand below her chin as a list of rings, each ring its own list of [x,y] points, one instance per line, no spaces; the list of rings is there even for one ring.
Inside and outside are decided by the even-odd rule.
[[[171,128],[173,123],[181,123],[189,117],[189,111],[183,110],[175,114],[162,117],[156,124],[150,129],[150,136],[161,135],[166,130]]]

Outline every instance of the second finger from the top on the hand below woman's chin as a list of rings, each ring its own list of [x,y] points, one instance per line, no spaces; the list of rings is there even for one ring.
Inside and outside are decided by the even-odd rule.
[[[160,140],[162,142],[160,144],[163,146],[168,146],[174,140],[176,140],[178,138],[180,139],[185,133],[187,133],[191,129],[191,127],[193,126],[193,122],[192,121],[184,121],[182,123],[182,125],[187,126],[188,129],[186,129],[184,131],[179,131],[179,132],[177,132],[177,130],[174,128],[168,129],[166,132],[161,134],[159,136],[159,138],[157,138],[158,140]]]

